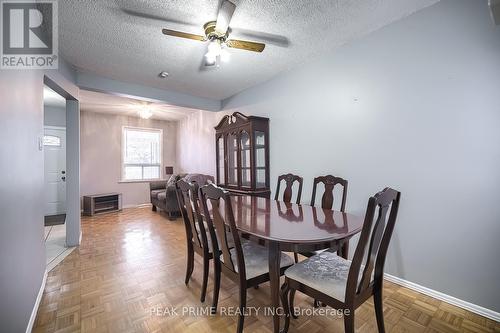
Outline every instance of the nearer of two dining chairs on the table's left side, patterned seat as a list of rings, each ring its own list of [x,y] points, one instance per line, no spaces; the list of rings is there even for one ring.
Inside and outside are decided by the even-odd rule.
[[[222,272],[239,285],[240,305],[236,331],[241,333],[245,319],[247,289],[269,281],[268,249],[240,238],[229,192],[213,184],[203,186],[200,192],[212,239],[212,253],[221,253],[220,256],[214,257],[215,279],[212,313],[217,311]],[[230,236],[234,241],[233,248],[228,245]],[[282,253],[280,275],[283,275],[285,269],[291,265],[293,265],[292,258]]]

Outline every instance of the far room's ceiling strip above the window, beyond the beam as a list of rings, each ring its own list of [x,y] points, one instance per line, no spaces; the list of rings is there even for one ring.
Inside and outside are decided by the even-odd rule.
[[[167,121],[178,121],[197,111],[195,109],[183,108],[180,106],[150,103],[128,97],[88,90],[80,90],[79,100],[80,109],[82,111],[138,117],[139,110],[147,106],[153,112],[151,119]]]

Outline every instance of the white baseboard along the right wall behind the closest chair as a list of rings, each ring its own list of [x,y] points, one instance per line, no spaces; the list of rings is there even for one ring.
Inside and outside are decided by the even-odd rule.
[[[446,303],[450,303],[452,305],[458,306],[459,308],[476,313],[478,315],[489,318],[491,320],[495,320],[497,322],[500,322],[500,313],[499,312],[495,312],[495,311],[487,309],[485,307],[482,307],[482,306],[458,299],[456,297],[444,294],[440,291],[436,291],[436,290],[421,286],[419,284],[416,284],[416,283],[413,283],[410,281],[406,281],[404,279],[401,279],[401,278],[393,276],[393,275],[384,274],[384,279],[386,279],[387,281],[396,283],[400,286],[406,287],[408,289],[415,290],[415,291],[422,293],[424,295],[431,296],[431,297],[434,297],[438,300],[444,301]]]

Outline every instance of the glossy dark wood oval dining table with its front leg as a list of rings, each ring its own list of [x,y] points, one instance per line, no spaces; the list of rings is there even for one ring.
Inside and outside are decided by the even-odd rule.
[[[363,218],[337,210],[255,196],[231,196],[238,231],[269,252],[273,331],[280,331],[281,252],[337,249],[359,233]]]

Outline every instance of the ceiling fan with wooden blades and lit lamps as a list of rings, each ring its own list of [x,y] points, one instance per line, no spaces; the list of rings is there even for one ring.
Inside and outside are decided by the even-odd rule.
[[[205,66],[218,67],[221,61],[226,61],[229,57],[228,48],[262,52],[266,47],[263,43],[229,38],[229,23],[235,9],[236,5],[234,3],[224,0],[219,8],[217,20],[209,21],[203,25],[204,36],[170,29],[162,29],[162,32],[168,36],[193,39],[201,42],[209,41],[208,52],[205,54]]]

